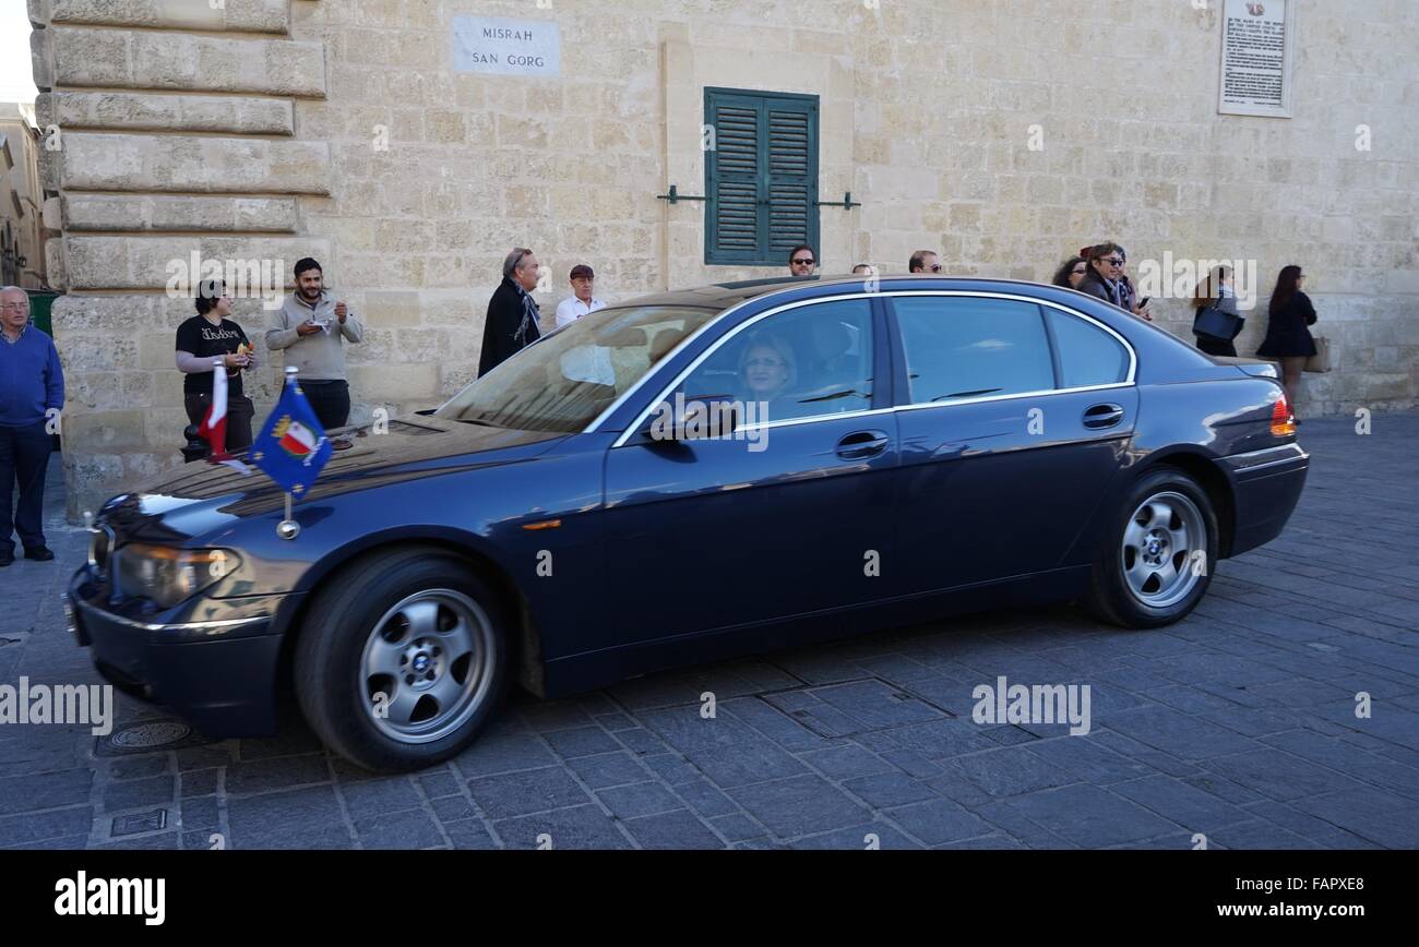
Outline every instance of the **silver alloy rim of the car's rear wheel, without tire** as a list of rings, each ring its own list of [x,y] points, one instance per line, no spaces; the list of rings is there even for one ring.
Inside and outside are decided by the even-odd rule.
[[[1120,566],[1141,604],[1168,608],[1185,600],[1210,567],[1202,510],[1172,491],[1145,499],[1124,527]]]

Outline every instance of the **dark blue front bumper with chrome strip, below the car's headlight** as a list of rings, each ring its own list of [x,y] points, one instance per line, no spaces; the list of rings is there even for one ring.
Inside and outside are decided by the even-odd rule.
[[[106,601],[88,568],[70,581],[65,615],[115,688],[160,703],[213,737],[275,733],[280,595],[184,603],[158,615]]]

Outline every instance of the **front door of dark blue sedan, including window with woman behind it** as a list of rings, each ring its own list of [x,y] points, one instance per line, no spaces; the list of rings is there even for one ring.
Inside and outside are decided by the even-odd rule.
[[[898,442],[884,326],[866,296],[771,310],[708,349],[654,403],[661,413],[677,397],[734,396],[752,422],[732,437],[667,441],[634,434],[643,415],[607,452],[619,641],[885,594],[874,560],[894,542]]]

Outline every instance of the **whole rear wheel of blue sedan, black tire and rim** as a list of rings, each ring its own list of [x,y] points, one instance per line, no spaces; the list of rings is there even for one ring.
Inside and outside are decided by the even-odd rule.
[[[1094,561],[1086,610],[1124,628],[1161,628],[1191,612],[1212,583],[1218,516],[1186,472],[1159,466],[1127,491]]]

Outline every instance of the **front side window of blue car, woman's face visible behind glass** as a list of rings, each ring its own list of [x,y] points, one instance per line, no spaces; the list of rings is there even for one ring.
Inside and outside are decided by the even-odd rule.
[[[719,346],[677,388],[687,401],[755,404],[758,421],[792,421],[873,403],[873,310],[867,299],[819,302],[761,319]]]

